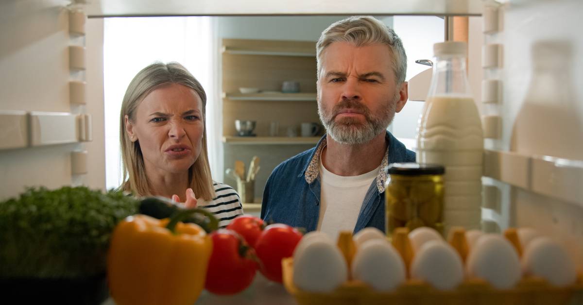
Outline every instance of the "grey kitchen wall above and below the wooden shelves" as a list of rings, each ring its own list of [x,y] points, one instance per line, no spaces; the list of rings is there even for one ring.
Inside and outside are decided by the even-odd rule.
[[[320,34],[333,22],[347,16],[273,16],[273,17],[218,17],[219,40],[223,38],[305,40],[317,41]],[[379,17],[392,25],[392,17]],[[219,70],[220,71],[220,70]],[[315,73],[315,71],[314,71]],[[261,152],[261,171],[255,181],[255,198],[261,202],[265,183],[279,163],[314,145],[230,145],[224,144],[224,169],[234,167],[235,160],[248,166],[251,158]],[[267,157],[265,157],[267,156]],[[220,176],[217,176],[220,177]],[[236,187],[236,181],[224,177],[224,183]]]

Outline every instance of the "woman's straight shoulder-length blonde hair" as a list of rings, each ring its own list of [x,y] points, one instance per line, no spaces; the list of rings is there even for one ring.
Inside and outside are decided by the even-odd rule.
[[[169,62],[168,64],[154,62],[146,66],[134,76],[125,91],[120,113],[120,146],[124,173],[124,183],[120,188],[124,191],[131,191],[138,196],[152,195],[146,178],[139,141],[130,141],[125,129],[125,115],[128,115],[130,121],[134,121],[139,104],[150,92],[173,83],[191,88],[202,100],[202,117],[203,122],[205,122],[202,149],[201,154],[188,171],[188,182],[197,197],[210,201],[215,197],[215,188],[210,176],[209,158],[206,151],[206,93],[201,83],[178,62]]]

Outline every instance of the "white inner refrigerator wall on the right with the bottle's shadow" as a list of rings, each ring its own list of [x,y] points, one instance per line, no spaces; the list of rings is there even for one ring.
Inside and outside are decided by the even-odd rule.
[[[583,2],[511,1],[502,9],[503,31],[486,36],[503,45],[499,149],[583,160]],[[560,239],[583,270],[583,206],[507,190],[510,225]]]

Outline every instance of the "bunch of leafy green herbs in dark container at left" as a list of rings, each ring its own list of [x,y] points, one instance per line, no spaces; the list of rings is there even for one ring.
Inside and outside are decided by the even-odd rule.
[[[120,191],[29,188],[0,202],[0,277],[101,274],[115,225],[137,212],[138,201]]]

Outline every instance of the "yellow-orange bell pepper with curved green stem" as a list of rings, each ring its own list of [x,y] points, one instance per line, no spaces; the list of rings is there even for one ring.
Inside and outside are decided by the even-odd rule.
[[[212,240],[202,227],[178,220],[129,216],[114,229],[107,256],[110,294],[117,305],[192,305],[204,288]]]

